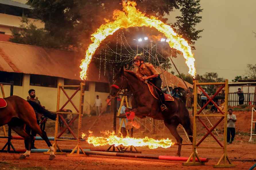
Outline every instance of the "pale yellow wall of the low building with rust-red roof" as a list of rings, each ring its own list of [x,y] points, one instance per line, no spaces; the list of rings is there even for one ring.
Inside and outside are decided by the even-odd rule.
[[[34,89],[36,91],[36,96],[38,97],[38,100],[41,102],[42,106],[45,106],[46,109],[51,111],[56,111],[57,109],[57,88],[51,88],[51,87],[41,87],[41,86],[30,86],[30,75],[24,74],[23,77],[23,83],[22,86],[14,86],[13,87],[13,95],[20,96],[26,100],[28,96],[28,90]],[[63,78],[58,78],[58,83],[64,84]],[[99,97],[102,100],[102,104],[105,105],[106,101],[105,99],[109,95],[108,93],[102,93],[102,92],[95,92],[95,82],[88,82],[89,83],[89,91],[84,92],[84,113],[89,112],[89,105],[93,106],[94,101],[96,98],[96,95],[99,95]],[[64,89],[68,96],[71,97],[71,95],[75,92],[75,90],[69,90]],[[4,91],[5,91],[5,97],[10,96],[10,86],[4,85]],[[62,92],[60,93],[60,108],[65,104],[65,102],[68,100],[65,94]],[[80,100],[80,91],[77,92],[77,94],[72,98],[73,103],[79,109],[79,100]],[[2,97],[2,93],[0,92],[0,97]],[[70,109],[73,112],[75,111],[75,108],[72,106],[72,104],[69,102],[67,106],[65,106],[66,109]]]

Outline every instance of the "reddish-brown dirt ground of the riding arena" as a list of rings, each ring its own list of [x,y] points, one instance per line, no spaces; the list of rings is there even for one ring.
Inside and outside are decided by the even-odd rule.
[[[236,111],[234,112],[237,117],[236,122],[236,137],[232,144],[228,145],[228,157],[233,164],[236,165],[234,168],[220,168],[220,169],[249,169],[256,163],[256,137],[254,142],[249,143],[249,133],[251,128],[251,111]],[[212,117],[210,121],[212,124],[218,121],[219,118]],[[96,120],[96,116],[83,118],[82,129],[84,132],[88,131],[88,128]],[[203,120],[208,127],[210,124],[206,119]],[[76,122],[75,122],[76,124]],[[117,121],[117,124],[118,121]],[[198,141],[207,132],[206,129],[198,123],[197,135]],[[46,132],[48,136],[54,136],[55,123],[53,121],[47,121]],[[118,127],[117,127],[118,128]],[[73,127],[74,131],[77,129]],[[223,124],[217,126],[217,132],[220,141],[223,141]],[[93,134],[95,136],[102,136],[100,131],[113,130],[113,114],[102,115],[92,128]],[[178,131],[183,138],[183,143],[188,143],[186,141],[185,134],[181,128],[178,126]],[[176,142],[176,140],[170,135],[167,129],[164,131],[164,135],[151,135],[150,133],[138,133],[135,130],[134,137],[152,137],[154,139],[169,138]],[[2,135],[2,131],[0,131]],[[13,133],[15,135],[15,133]],[[63,135],[63,137],[71,137],[69,134]],[[0,149],[3,147],[7,140],[1,139]],[[24,141],[22,140],[12,140],[15,149],[24,149]],[[53,143],[53,141],[52,141]],[[59,142],[61,149],[73,149],[75,147],[75,142],[63,141]],[[35,146],[37,148],[47,148],[44,141],[36,141]],[[218,144],[212,137],[207,137],[205,141],[200,146],[212,146],[218,147]],[[83,149],[107,149],[109,146],[94,147],[89,145],[87,142],[82,142]],[[169,155],[174,156],[177,152],[177,146],[172,146],[167,149],[157,148],[148,149],[148,147],[137,147],[139,151],[143,154],[151,155]],[[188,157],[192,152],[190,145],[185,145],[182,147],[181,156]],[[20,154],[12,153],[0,153],[0,169],[213,169],[213,165],[218,162],[222,155],[221,150],[217,149],[198,149],[199,157],[209,158],[209,162],[205,165],[200,166],[183,166],[183,161],[168,161],[168,160],[157,160],[157,159],[140,159],[140,158],[127,158],[127,157],[108,157],[108,156],[96,156],[90,155],[89,157],[67,157],[65,155],[57,155],[54,160],[49,160],[49,155],[44,155],[43,153],[31,153],[30,157],[25,160],[19,160]]]

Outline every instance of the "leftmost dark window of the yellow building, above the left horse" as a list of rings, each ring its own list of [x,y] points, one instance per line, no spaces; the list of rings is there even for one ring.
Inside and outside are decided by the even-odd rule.
[[[10,73],[0,71],[0,82],[10,83],[13,81],[14,86],[22,86],[23,73]]]

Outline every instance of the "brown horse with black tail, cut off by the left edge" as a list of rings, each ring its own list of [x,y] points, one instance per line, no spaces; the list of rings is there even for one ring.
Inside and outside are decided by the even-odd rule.
[[[25,125],[35,131],[44,139],[51,153],[50,160],[55,158],[54,148],[49,141],[46,132],[42,131],[36,122],[36,112],[43,114],[52,120],[56,120],[56,114],[51,114],[48,110],[33,101],[26,101],[19,96],[4,98],[7,106],[0,108],[0,126],[8,124],[9,128],[25,139],[26,152],[20,155],[20,159],[30,156],[31,143],[34,137],[25,131]]]

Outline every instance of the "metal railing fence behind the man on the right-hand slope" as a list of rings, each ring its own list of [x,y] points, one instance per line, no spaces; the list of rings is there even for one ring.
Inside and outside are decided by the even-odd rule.
[[[256,93],[244,93],[244,98],[244,104],[249,105],[249,102],[251,102],[252,105],[256,104]],[[239,105],[239,97],[237,93],[228,93],[228,105]]]

